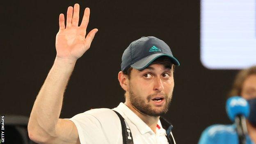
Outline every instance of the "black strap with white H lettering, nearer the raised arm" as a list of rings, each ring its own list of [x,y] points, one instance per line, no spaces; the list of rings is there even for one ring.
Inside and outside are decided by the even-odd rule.
[[[122,135],[123,135],[123,144],[133,144],[133,136],[130,131],[130,127],[128,126],[128,123],[126,123],[125,119],[119,114],[119,112],[113,110],[117,116],[119,117],[121,121],[122,126]]]

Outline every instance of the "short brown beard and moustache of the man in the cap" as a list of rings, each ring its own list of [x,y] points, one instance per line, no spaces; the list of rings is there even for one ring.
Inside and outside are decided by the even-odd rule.
[[[129,89],[129,99],[130,99],[131,105],[135,109],[139,110],[139,112],[149,116],[153,116],[153,117],[162,116],[168,111],[169,104],[171,103],[171,97],[172,97],[172,94],[171,96],[168,96],[167,94],[165,94],[164,97],[166,102],[165,102],[165,105],[160,109],[160,108],[153,108],[153,106],[150,105],[151,99],[156,95],[157,94],[151,94],[147,96],[145,100],[143,99],[143,96],[139,96],[135,94],[133,92],[133,89]]]

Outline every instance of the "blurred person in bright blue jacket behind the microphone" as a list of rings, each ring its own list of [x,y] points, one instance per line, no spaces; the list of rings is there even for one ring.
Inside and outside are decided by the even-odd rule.
[[[256,66],[240,71],[235,78],[229,96],[242,96],[250,105],[247,118],[247,144],[256,144]],[[235,124],[215,124],[206,128],[199,139],[199,144],[238,144]]]

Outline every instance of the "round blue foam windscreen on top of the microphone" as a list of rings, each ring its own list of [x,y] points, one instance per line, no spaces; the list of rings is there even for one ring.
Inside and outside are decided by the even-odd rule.
[[[226,112],[231,121],[235,121],[237,115],[249,117],[250,107],[248,102],[241,96],[232,96],[226,101]]]

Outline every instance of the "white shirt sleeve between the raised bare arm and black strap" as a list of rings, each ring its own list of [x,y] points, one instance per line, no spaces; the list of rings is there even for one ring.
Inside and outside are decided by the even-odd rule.
[[[119,118],[110,109],[94,109],[75,115],[81,144],[117,144],[122,138]]]

